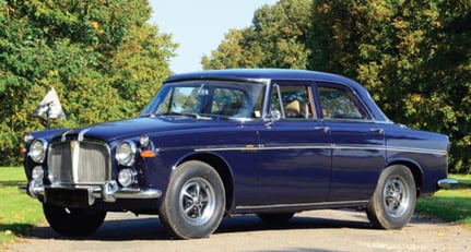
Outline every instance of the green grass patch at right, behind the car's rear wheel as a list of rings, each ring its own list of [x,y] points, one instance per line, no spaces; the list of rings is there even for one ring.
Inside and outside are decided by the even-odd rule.
[[[432,197],[421,197],[416,212],[446,221],[471,227],[471,176],[450,175],[459,181],[454,189],[440,190]]]

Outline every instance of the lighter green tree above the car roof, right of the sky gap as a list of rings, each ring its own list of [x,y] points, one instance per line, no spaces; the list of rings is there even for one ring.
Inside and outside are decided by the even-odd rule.
[[[203,68],[305,69],[310,9],[310,0],[282,0],[263,5],[255,12],[251,26],[231,29],[217,50],[203,57]]]

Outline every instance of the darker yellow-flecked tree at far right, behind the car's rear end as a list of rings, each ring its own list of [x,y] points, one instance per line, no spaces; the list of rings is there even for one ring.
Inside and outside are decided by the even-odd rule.
[[[450,136],[469,172],[469,1],[315,1],[311,68],[358,80],[395,121]]]

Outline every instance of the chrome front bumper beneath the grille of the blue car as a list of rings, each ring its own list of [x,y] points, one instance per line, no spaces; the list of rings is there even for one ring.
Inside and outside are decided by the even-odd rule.
[[[97,199],[104,202],[116,202],[117,199],[128,200],[150,200],[162,196],[162,191],[157,189],[129,189],[119,188],[116,181],[107,181],[99,185],[43,185],[34,180],[30,181],[28,185],[21,185],[19,190],[27,193],[34,199],[48,200],[47,192],[52,191],[81,191],[86,194],[89,205],[93,205]],[[66,199],[67,200],[67,199]]]

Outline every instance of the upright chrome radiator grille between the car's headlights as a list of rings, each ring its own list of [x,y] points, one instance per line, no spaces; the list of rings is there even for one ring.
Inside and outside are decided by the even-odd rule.
[[[104,183],[109,180],[110,157],[105,144],[95,142],[61,142],[49,149],[51,182]]]

